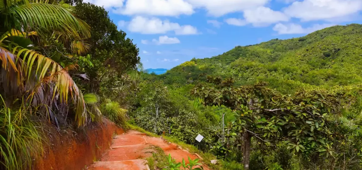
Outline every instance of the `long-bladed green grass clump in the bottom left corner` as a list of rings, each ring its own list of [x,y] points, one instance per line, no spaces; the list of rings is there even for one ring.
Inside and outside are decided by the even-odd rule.
[[[0,169],[30,169],[42,152],[42,137],[25,110],[0,110]]]

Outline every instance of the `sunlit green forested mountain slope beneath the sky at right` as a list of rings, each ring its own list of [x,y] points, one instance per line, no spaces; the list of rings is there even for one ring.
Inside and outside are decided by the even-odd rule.
[[[193,59],[159,76],[166,84],[233,77],[238,84],[268,81],[282,92],[301,87],[362,82],[362,25],[333,26],[305,37],[237,46],[222,55]]]

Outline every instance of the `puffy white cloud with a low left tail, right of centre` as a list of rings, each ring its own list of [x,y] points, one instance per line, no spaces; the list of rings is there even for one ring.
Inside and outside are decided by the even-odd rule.
[[[281,21],[289,21],[289,17],[282,12],[274,11],[267,7],[245,10],[244,20],[238,18],[228,18],[225,20],[229,25],[236,26],[244,26],[247,24],[252,24],[253,26],[268,26]]]

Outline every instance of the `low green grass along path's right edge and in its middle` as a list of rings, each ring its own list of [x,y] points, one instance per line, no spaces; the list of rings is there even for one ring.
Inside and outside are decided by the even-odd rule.
[[[148,132],[148,131],[144,130],[143,128],[140,128],[138,126],[134,126],[134,125],[129,124],[129,123],[126,124],[125,130],[126,131],[127,130],[135,130],[135,131],[139,131],[139,132],[142,132],[142,133],[146,133],[147,136],[161,137],[160,135],[156,135],[155,133]],[[168,142],[177,144],[178,146],[181,146],[182,148],[184,148],[186,150],[189,150],[190,153],[199,154],[203,158],[203,160],[202,160],[203,165],[207,165],[207,167],[209,167],[209,169],[211,169],[211,170],[243,170],[244,169],[243,165],[241,163],[238,163],[238,162],[228,162],[228,161],[224,161],[224,160],[218,160],[218,163],[212,164],[211,160],[216,160],[216,156],[214,156],[213,154],[208,153],[208,152],[204,153],[204,152],[200,151],[199,149],[197,149],[197,147],[195,147],[193,145],[185,144],[184,142],[179,141],[175,137],[164,136],[164,135],[162,135],[162,137]],[[159,147],[156,146],[156,148],[159,148]],[[157,150],[156,155],[153,155],[152,157],[146,159],[148,161],[148,163],[149,163],[148,165],[150,166],[151,170],[152,170],[151,163],[153,163],[152,167],[159,167],[158,165],[155,165],[155,162],[157,162],[157,161],[155,161],[154,156],[156,156],[156,157],[159,156],[160,157],[159,159],[162,159],[162,161],[160,161],[160,162],[166,162],[167,161],[167,156],[164,154],[164,152],[163,152],[163,150],[161,148],[159,148],[159,149],[160,149],[160,151]],[[166,160],[163,160],[165,158],[166,158]],[[153,169],[153,170],[157,170],[157,169]]]

